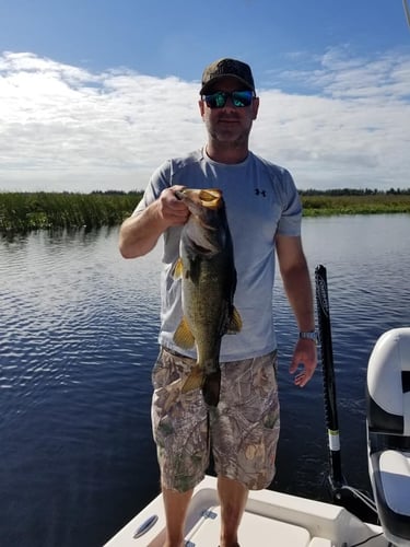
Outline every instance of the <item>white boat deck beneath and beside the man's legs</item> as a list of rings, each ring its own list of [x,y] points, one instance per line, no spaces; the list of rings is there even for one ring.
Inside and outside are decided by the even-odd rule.
[[[143,535],[137,531],[153,515],[156,522]],[[207,476],[196,488],[189,507],[186,547],[216,547],[220,532],[216,479]],[[162,547],[165,535],[160,494],[105,547]],[[271,490],[251,491],[239,527],[241,547],[350,547],[373,537],[366,547],[388,547],[383,529],[363,523],[345,509]]]

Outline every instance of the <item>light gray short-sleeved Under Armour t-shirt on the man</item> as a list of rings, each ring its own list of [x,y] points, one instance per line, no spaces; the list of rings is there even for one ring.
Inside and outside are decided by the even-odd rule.
[[[274,280],[274,235],[300,236],[301,200],[290,173],[249,152],[238,164],[221,164],[203,150],[173,159],[152,175],[134,214],[154,201],[164,188],[220,188],[234,246],[237,286],[234,305],[241,314],[241,333],[222,338],[220,361],[260,357],[277,347],[272,314]],[[173,265],[179,256],[181,228],[164,233],[161,279],[161,345],[196,357],[177,347],[174,333],[183,316],[180,279],[174,279]]]

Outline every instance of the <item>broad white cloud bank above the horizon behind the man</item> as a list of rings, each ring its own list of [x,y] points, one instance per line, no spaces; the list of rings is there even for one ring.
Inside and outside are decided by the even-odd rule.
[[[347,48],[260,91],[251,147],[301,188],[409,187],[410,55]],[[198,83],[0,56],[0,189],[142,189],[206,138]]]

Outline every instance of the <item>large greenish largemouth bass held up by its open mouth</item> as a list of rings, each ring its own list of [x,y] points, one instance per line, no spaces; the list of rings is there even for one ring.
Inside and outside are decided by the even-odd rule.
[[[221,388],[220,349],[225,334],[238,333],[242,319],[233,305],[236,270],[225,203],[219,189],[177,190],[190,211],[183,228],[174,276],[183,283],[183,319],[174,341],[197,349],[197,362],[183,393],[202,388],[203,398],[216,406]]]

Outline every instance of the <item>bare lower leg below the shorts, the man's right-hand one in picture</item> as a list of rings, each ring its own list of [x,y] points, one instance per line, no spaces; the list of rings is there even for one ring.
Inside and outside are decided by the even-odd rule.
[[[235,547],[238,545],[237,529],[248,499],[248,489],[237,480],[218,477],[218,493],[222,516],[220,547]]]

